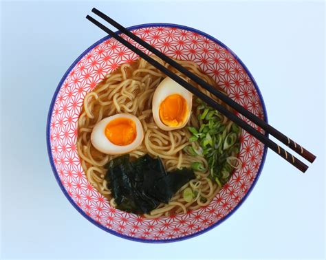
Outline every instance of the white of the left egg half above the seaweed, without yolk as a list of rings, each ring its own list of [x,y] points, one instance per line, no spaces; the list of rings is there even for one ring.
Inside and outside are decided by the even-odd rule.
[[[131,144],[127,145],[116,145],[110,142],[110,140],[105,136],[105,127],[107,124],[116,118],[128,118],[135,122],[135,130],[136,137]],[[115,155],[115,154],[123,154],[129,153],[135,149],[137,149],[140,144],[142,144],[142,140],[144,139],[144,131],[142,129],[142,123],[140,120],[129,114],[129,113],[117,113],[114,116],[109,116],[108,118],[104,118],[100,120],[97,124],[95,124],[93,131],[91,132],[91,144],[100,152]]]

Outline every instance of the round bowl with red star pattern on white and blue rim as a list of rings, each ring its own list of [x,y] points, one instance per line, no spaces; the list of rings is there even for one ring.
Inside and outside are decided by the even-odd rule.
[[[136,25],[129,30],[172,58],[197,63],[228,96],[267,120],[254,78],[241,60],[213,36],[182,25],[162,23]],[[77,121],[85,95],[121,64],[137,58],[127,47],[107,36],[91,45],[69,67],[54,93],[47,119],[47,150],[54,176],[76,210],[113,235],[143,242],[178,241],[200,235],[230,217],[248,197],[263,168],[267,147],[242,131],[241,166],[208,206],[156,219],[110,206],[88,182],[81,166],[76,147]]]

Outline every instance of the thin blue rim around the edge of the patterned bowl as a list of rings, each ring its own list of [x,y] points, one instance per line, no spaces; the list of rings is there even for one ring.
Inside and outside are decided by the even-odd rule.
[[[263,101],[263,96],[261,95],[261,91],[256,83],[256,81],[254,80],[254,77],[252,76],[252,74],[250,73],[249,69],[246,67],[246,65],[244,65],[244,63],[241,61],[241,59],[234,53],[232,52],[232,50],[230,50],[229,47],[227,47],[224,43],[221,43],[221,41],[217,40],[215,37],[210,36],[209,34],[206,34],[205,32],[202,32],[200,30],[185,26],[185,25],[179,25],[179,24],[175,24],[175,23],[143,23],[140,25],[133,25],[127,28],[127,30],[136,30],[136,29],[140,29],[140,28],[149,28],[149,27],[166,27],[166,28],[178,28],[178,29],[182,29],[182,30],[187,30],[190,32],[195,32],[197,34],[200,34],[202,36],[205,36],[206,38],[210,39],[210,41],[214,41],[215,43],[221,45],[222,47],[224,47],[226,50],[228,50],[228,52],[230,52],[230,54],[241,64],[241,66],[243,67],[243,69],[246,71],[246,73],[248,74],[250,80],[252,80],[252,84],[254,85],[254,88],[257,91],[257,94],[259,96],[259,99],[261,101],[261,107],[263,109],[263,116],[265,118],[265,122],[268,122],[268,116],[267,116],[267,111],[265,108],[265,102]],[[117,34],[121,34],[120,31],[116,31]],[[131,241],[138,241],[138,242],[143,242],[143,243],[168,243],[168,242],[175,242],[175,241],[182,241],[185,239],[190,239],[191,237],[196,237],[198,235],[202,235],[204,232],[207,232],[217,226],[219,226],[219,224],[223,223],[226,219],[228,219],[233,213],[235,213],[237,211],[237,209],[243,204],[243,202],[246,201],[247,197],[250,195],[250,193],[252,192],[252,189],[254,188],[254,186],[257,184],[257,180],[259,179],[259,176],[261,175],[261,171],[263,169],[263,165],[265,164],[265,158],[266,158],[266,154],[268,151],[268,147],[265,145],[264,149],[263,149],[263,155],[262,155],[262,159],[261,159],[261,164],[259,165],[259,169],[257,171],[257,175],[254,178],[250,188],[248,189],[247,193],[243,196],[243,198],[241,199],[241,201],[237,204],[237,206],[235,206],[235,208],[233,208],[226,216],[224,216],[223,218],[219,219],[219,221],[217,221],[216,223],[212,224],[211,226],[208,226],[207,228],[204,228],[203,230],[199,230],[197,232],[194,232],[193,234],[190,235],[186,235],[186,236],[182,236],[182,237],[177,237],[177,238],[171,238],[171,239],[142,239],[139,237],[130,237],[127,235],[124,235],[122,233],[116,232],[114,230],[111,230],[109,228],[106,228],[105,226],[102,226],[102,224],[98,223],[97,221],[95,221],[94,219],[92,219],[91,217],[89,217],[77,204],[76,202],[74,202],[74,200],[72,199],[72,197],[70,197],[70,195],[67,193],[65,187],[63,186],[63,183],[60,180],[60,177],[58,175],[58,172],[56,171],[56,166],[54,165],[54,160],[52,157],[52,150],[51,150],[51,141],[50,141],[50,129],[51,129],[51,118],[52,118],[52,112],[53,112],[53,108],[54,108],[54,104],[56,101],[56,98],[58,96],[58,92],[60,91],[64,80],[67,78],[67,76],[69,75],[69,73],[72,71],[72,69],[76,66],[76,64],[78,63],[78,61],[80,61],[85,54],[87,54],[88,52],[90,52],[92,49],[94,49],[94,47],[96,47],[97,45],[99,45],[100,43],[107,41],[107,39],[111,39],[111,36],[105,36],[102,39],[96,41],[96,43],[92,44],[91,46],[89,46],[87,48],[87,50],[85,50],[82,54],[80,54],[80,56],[78,56],[78,58],[76,58],[76,60],[74,61],[74,63],[72,63],[72,65],[69,66],[69,68],[67,69],[67,71],[65,72],[65,74],[63,75],[63,77],[61,78],[60,82],[58,83],[58,86],[56,87],[56,91],[54,92],[54,96],[52,98],[51,104],[50,104],[50,109],[49,112],[47,114],[47,125],[46,125],[46,142],[47,142],[47,154],[49,156],[49,160],[50,160],[50,164],[52,167],[52,171],[54,173],[54,177],[56,178],[56,182],[58,182],[58,185],[61,188],[61,191],[63,191],[63,194],[65,195],[65,197],[67,197],[68,201],[72,204],[72,206],[74,206],[74,208],[76,208],[76,210],[83,215],[83,217],[85,217],[85,219],[89,220],[92,224],[94,224],[95,226],[97,226],[98,228],[101,228],[102,230],[105,230],[106,232],[109,232],[112,235],[116,235],[117,237],[121,237],[123,239],[128,239]],[[268,137],[268,133],[265,133],[265,136]]]

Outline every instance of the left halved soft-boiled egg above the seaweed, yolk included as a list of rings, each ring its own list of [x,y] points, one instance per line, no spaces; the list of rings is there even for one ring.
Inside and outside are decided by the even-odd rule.
[[[91,132],[91,143],[102,153],[122,154],[137,149],[144,139],[142,124],[129,113],[100,120]]]

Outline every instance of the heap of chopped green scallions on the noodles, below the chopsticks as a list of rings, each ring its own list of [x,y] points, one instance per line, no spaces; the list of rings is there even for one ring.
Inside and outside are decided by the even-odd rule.
[[[184,151],[189,155],[204,156],[208,162],[209,177],[221,187],[228,182],[232,171],[241,165],[237,158],[241,129],[202,100],[197,100],[197,104],[199,127],[188,127],[192,133],[189,138],[191,145]],[[191,167],[195,171],[207,171],[202,162],[193,162]]]

